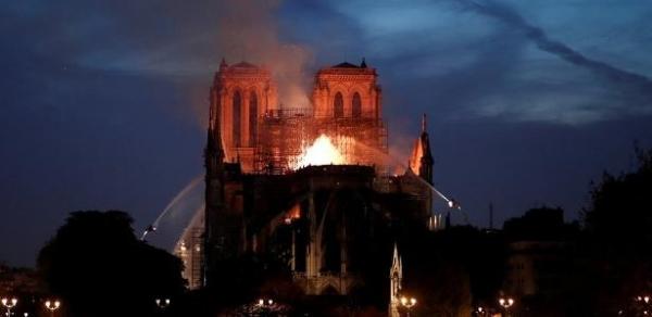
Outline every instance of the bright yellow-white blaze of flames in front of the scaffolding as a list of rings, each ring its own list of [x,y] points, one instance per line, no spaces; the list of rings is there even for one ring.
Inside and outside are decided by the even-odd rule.
[[[333,140],[326,135],[321,135],[311,145],[304,147],[298,156],[293,169],[310,165],[347,164],[344,154],[347,143],[352,140],[337,142],[339,147],[333,143]]]

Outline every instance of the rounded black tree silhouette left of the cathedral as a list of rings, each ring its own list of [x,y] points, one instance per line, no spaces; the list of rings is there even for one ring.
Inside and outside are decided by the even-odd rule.
[[[66,316],[151,316],[184,291],[181,262],[139,241],[124,212],[75,212],[40,251],[38,268]]]

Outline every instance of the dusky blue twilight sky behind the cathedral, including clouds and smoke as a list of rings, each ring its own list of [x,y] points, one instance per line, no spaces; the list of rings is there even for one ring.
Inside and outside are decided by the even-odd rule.
[[[151,223],[202,173],[223,55],[299,87],[365,56],[393,154],[427,113],[436,186],[472,224],[489,202],[499,225],[541,204],[575,219],[591,180],[652,147],[650,16],[640,0],[7,1],[0,262],[34,265],[72,211]]]

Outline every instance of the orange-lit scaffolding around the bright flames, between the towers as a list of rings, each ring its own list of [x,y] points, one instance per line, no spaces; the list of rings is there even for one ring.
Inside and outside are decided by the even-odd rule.
[[[321,135],[331,138],[348,164],[384,168],[387,127],[375,114],[316,117],[311,109],[283,109],[259,119],[254,173],[286,174],[303,149]]]

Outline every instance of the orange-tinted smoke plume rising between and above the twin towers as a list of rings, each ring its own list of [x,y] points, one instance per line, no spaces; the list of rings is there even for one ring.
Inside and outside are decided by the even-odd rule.
[[[218,14],[218,51],[227,62],[240,60],[267,67],[278,85],[286,107],[305,107],[310,83],[304,68],[312,52],[304,46],[279,39],[275,13],[279,1],[227,0]]]

